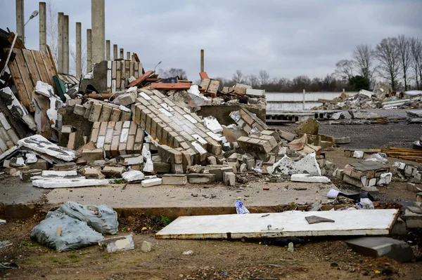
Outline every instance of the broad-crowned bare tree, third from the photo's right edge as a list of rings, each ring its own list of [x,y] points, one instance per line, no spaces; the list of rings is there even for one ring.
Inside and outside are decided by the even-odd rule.
[[[381,40],[376,46],[376,59],[380,62],[379,74],[390,81],[391,88],[395,91],[400,73],[400,54],[397,38],[388,37]]]

